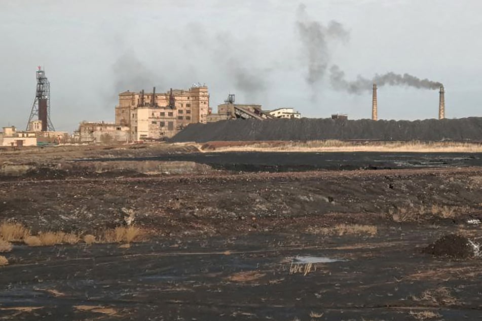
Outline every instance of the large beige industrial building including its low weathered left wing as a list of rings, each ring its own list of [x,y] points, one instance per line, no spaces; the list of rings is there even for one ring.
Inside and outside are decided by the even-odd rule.
[[[82,122],[78,137],[81,143],[163,140],[189,124],[206,123],[209,110],[208,88],[202,85],[166,93],[155,87],[152,93],[126,91],[119,94],[115,123]]]

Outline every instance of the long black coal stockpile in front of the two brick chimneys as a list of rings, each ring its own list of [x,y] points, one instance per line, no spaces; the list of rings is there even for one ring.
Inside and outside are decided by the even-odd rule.
[[[426,119],[424,121],[356,121],[341,119],[236,119],[209,124],[192,124],[174,136],[172,142],[208,141],[482,141],[482,117]]]

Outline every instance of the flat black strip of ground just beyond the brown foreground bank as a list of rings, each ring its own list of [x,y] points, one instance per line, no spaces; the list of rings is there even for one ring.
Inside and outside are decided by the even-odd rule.
[[[415,152],[194,152],[89,161],[157,160],[195,162],[215,169],[246,172],[410,169],[482,166],[481,153]]]

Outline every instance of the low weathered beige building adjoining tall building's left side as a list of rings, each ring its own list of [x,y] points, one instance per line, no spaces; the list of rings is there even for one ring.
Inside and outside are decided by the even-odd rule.
[[[76,135],[80,143],[127,143],[131,141],[130,128],[104,122],[82,122]]]

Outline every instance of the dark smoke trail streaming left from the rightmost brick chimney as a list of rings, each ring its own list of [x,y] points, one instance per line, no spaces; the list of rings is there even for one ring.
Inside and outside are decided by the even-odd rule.
[[[442,84],[433,82],[429,79],[420,79],[408,73],[397,74],[388,72],[385,74],[376,74],[372,79],[357,76],[354,81],[347,81],[345,72],[340,67],[333,65],[330,68],[330,83],[335,90],[346,91],[350,94],[360,94],[373,88],[373,84],[378,87],[382,86],[409,86],[419,89],[438,89]]]

